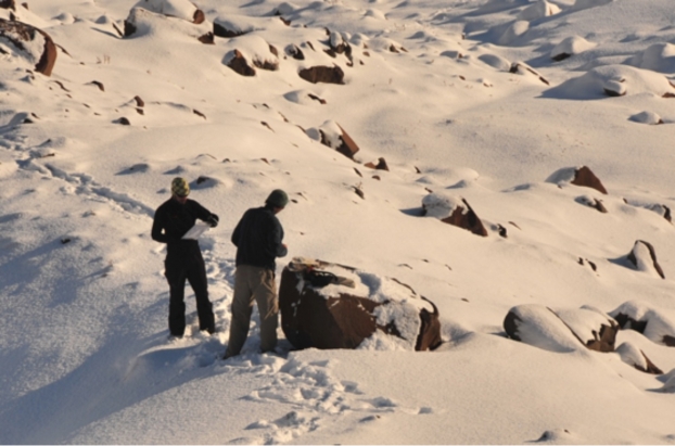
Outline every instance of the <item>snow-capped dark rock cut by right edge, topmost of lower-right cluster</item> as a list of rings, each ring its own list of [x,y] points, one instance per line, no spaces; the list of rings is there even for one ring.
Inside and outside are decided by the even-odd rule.
[[[623,330],[635,330],[657,344],[675,347],[675,323],[662,310],[628,301],[610,313]]]

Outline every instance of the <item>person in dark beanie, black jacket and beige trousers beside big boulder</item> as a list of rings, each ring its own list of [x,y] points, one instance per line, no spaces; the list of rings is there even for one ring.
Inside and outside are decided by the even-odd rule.
[[[249,336],[254,301],[260,315],[260,349],[270,352],[277,346],[279,301],[275,258],[288,254],[277,214],[288,203],[289,196],[284,191],[273,190],[265,206],[246,211],[232,232],[232,243],[237,246],[237,271],[230,340],[224,359],[241,353]]]

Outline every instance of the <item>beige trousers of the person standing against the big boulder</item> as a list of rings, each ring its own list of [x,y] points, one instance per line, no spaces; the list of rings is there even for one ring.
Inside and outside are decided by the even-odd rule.
[[[260,349],[269,352],[277,346],[277,300],[275,271],[256,266],[240,265],[234,272],[234,297],[232,298],[232,321],[230,341],[225,357],[241,353],[246,337],[253,311],[253,302],[260,314]]]

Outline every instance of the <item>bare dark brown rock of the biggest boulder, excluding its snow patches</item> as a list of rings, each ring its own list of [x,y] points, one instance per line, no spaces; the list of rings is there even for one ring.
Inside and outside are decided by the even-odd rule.
[[[393,301],[375,302],[367,296],[348,292],[348,280],[328,273],[322,268],[338,267],[334,264],[313,260],[313,265],[292,262],[283,269],[279,288],[281,328],[286,339],[296,348],[356,348],[375,331],[403,337],[396,320],[379,323],[377,309],[396,305]],[[352,271],[348,267],[344,271]],[[335,295],[322,295],[320,289],[328,284],[344,283]],[[352,283],[353,285],[353,283]],[[429,301],[426,301],[429,302]],[[400,304],[399,304],[400,305]],[[434,349],[441,345],[438,310],[419,311],[420,329],[415,340],[409,341],[416,351]],[[407,322],[409,323],[409,322]]]

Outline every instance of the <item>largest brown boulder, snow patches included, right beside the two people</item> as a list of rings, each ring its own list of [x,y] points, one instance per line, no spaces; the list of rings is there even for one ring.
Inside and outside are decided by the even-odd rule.
[[[279,307],[296,348],[426,351],[442,342],[437,308],[410,286],[327,262],[294,258]]]

